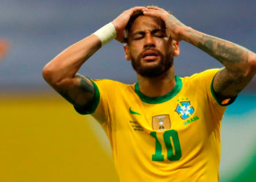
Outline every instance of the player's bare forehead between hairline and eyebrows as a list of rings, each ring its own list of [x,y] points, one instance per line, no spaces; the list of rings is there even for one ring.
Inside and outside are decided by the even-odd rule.
[[[134,23],[132,23],[132,27],[130,29],[131,32],[135,31],[146,31],[146,30],[154,30],[161,28],[161,21],[157,17],[150,16],[140,16],[137,17]]]

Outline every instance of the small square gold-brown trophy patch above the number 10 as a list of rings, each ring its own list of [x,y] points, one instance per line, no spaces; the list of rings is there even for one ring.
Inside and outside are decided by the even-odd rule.
[[[163,131],[170,129],[170,116],[169,114],[163,114],[152,117],[153,130]]]

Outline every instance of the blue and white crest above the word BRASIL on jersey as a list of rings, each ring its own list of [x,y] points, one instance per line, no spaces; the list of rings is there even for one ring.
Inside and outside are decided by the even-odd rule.
[[[178,103],[175,111],[181,116],[181,119],[188,119],[195,109],[191,106],[190,101],[181,101]]]

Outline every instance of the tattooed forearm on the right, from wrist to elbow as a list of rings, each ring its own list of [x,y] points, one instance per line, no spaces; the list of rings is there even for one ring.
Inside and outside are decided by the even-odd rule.
[[[239,71],[249,62],[253,52],[230,41],[209,36],[205,33],[195,31],[186,27],[181,33],[184,41],[195,45],[200,50],[208,53],[213,58],[219,60],[230,71]]]

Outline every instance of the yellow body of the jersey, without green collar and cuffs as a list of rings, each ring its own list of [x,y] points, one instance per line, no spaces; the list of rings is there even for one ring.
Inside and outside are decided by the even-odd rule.
[[[156,104],[143,102],[135,84],[93,80],[100,100],[92,116],[108,135],[120,181],[219,180],[220,124],[226,107],[211,92],[217,71],[181,78],[181,90]],[[163,161],[153,159],[156,155]]]

